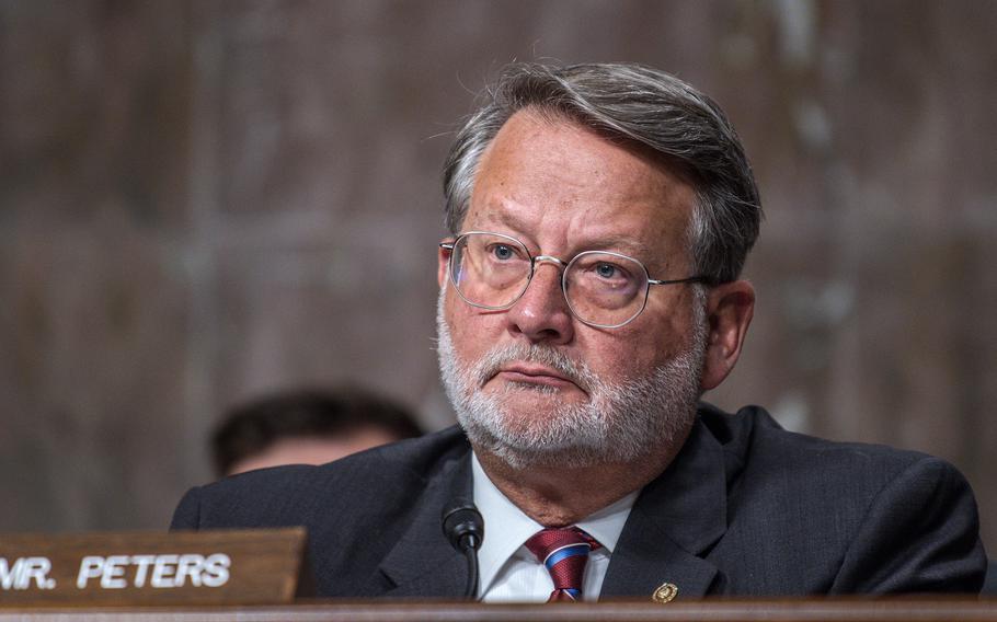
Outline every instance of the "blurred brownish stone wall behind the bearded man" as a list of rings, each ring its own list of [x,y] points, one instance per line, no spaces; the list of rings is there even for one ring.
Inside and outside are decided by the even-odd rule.
[[[158,528],[233,401],[451,421],[439,166],[512,59],[714,95],[767,219],[712,399],[940,454],[997,550],[997,2],[0,0],[0,530]]]

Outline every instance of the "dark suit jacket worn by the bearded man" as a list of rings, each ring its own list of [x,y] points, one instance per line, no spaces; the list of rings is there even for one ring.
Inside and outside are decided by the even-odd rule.
[[[440,510],[471,496],[452,427],[323,466],[194,488],[174,529],[308,528],[319,596],[452,597],[466,562]],[[501,530],[485,525],[485,538]],[[986,557],[963,476],[929,456],[787,433],[761,408],[701,406],[672,465],[638,497],[601,598],[978,591]]]

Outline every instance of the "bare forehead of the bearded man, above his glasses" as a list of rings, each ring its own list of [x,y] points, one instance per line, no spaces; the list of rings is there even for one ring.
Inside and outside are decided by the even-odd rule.
[[[482,157],[462,230],[529,234],[553,221],[573,231],[566,245],[648,256],[657,238],[685,233],[694,200],[660,159],[575,122],[520,112]]]

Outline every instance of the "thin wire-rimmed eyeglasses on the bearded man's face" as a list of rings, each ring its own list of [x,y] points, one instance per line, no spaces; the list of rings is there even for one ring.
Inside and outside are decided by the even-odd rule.
[[[610,251],[584,251],[565,263],[550,255],[531,255],[519,240],[488,231],[461,233],[439,247],[449,251],[450,281],[468,304],[508,309],[526,292],[537,264],[550,262],[563,270],[561,290],[571,313],[599,329],[618,329],[640,315],[652,285],[711,281],[706,276],[653,279],[644,264]]]

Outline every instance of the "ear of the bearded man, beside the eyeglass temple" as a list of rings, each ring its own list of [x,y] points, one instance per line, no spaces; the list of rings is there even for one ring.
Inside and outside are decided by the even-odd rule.
[[[755,313],[755,288],[746,280],[714,286],[707,298],[709,335],[703,360],[703,391],[719,385],[734,369]]]

